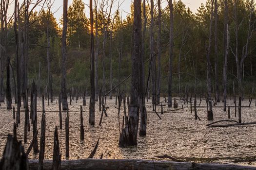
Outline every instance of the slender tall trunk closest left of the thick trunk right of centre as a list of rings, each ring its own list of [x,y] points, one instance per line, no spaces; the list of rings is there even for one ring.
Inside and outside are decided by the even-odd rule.
[[[160,79],[161,79],[161,0],[158,0],[158,78],[157,78],[157,104],[160,103]]]

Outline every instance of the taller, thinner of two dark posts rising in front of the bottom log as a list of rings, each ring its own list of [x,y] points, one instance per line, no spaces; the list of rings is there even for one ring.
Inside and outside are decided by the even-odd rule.
[[[42,96],[43,105],[44,105],[44,96]],[[48,97],[49,99],[49,97]],[[44,109],[44,107],[43,107]],[[39,165],[38,170],[43,170],[43,159],[44,159],[44,152],[45,152],[45,113],[43,110],[42,119],[41,119],[41,136],[40,136],[40,151],[39,151]]]

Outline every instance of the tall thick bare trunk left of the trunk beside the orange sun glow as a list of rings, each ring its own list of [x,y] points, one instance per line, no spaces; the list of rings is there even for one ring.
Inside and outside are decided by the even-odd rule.
[[[61,102],[62,109],[68,109],[67,92],[66,92],[66,37],[67,37],[67,23],[68,23],[68,0],[63,0],[63,30],[62,30],[62,79],[61,79]]]

